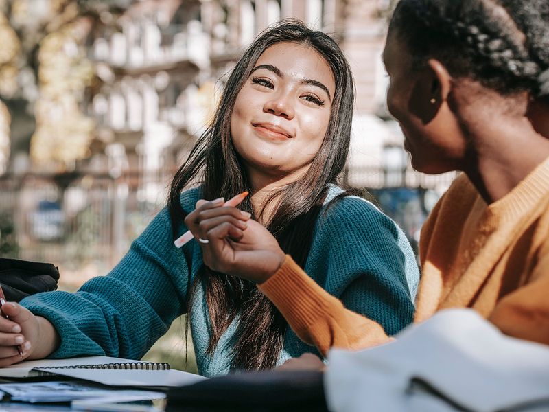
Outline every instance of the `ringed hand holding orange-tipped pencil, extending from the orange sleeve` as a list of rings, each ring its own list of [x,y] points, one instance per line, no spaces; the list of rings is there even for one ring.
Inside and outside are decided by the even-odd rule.
[[[237,196],[231,201],[240,204],[245,196]],[[223,199],[198,201],[196,209],[185,218],[185,225],[198,240],[204,263],[213,271],[265,282],[282,266],[285,253],[274,236],[248,212],[228,203]]]

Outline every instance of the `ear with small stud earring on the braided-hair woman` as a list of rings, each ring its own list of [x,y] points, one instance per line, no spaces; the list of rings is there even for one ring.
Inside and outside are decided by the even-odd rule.
[[[414,80],[408,110],[428,124],[439,113],[452,90],[452,76],[439,60],[429,59]]]

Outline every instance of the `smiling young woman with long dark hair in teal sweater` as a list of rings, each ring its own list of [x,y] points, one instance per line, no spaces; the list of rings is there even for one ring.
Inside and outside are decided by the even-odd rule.
[[[196,213],[189,212],[198,199],[222,205],[244,191],[250,196],[235,213],[264,225],[324,290],[388,334],[408,325],[419,279],[410,245],[392,220],[336,186],[353,100],[349,65],[329,36],[292,20],[258,36],[177,172],[168,207],[108,276],[77,293],[8,304],[3,312],[10,320],[0,319],[0,365],[21,360],[13,352],[16,339],[25,341],[23,358],[140,358],[185,312],[206,376],[269,369],[314,351],[253,282],[203,264],[207,239],[174,246],[194,227]]]

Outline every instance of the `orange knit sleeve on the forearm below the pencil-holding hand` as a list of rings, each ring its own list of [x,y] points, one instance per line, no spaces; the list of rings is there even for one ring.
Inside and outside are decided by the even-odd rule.
[[[343,306],[286,257],[279,271],[257,286],[305,343],[323,354],[330,347],[361,349],[390,341],[379,323]]]

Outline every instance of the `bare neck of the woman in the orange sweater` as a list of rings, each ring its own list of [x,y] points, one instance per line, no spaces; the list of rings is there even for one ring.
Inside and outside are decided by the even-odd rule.
[[[464,172],[490,204],[511,192],[549,157],[549,139],[536,133],[524,117],[482,127],[482,138],[471,139],[472,155]]]

